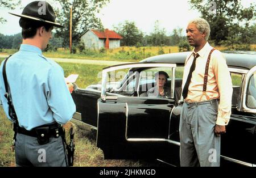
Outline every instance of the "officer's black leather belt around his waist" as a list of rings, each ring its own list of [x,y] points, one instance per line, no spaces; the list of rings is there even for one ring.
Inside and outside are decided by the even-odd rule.
[[[57,124],[57,122],[55,122],[53,124],[41,125],[41,126],[38,126],[36,128],[33,128],[32,130],[26,130],[25,128],[21,128],[19,126],[16,129],[17,129],[16,131],[19,134],[28,135],[30,137],[38,137],[38,135],[40,135],[40,137],[47,136],[47,137],[55,137],[55,138],[57,138],[61,134],[63,134],[62,126],[60,124]],[[44,132],[41,132],[42,130]]]

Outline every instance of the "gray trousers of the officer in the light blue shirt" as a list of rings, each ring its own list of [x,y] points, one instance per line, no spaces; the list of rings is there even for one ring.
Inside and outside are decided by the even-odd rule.
[[[15,145],[16,166],[66,167],[68,157],[61,137],[49,138],[49,143],[39,145],[36,137],[17,134]]]

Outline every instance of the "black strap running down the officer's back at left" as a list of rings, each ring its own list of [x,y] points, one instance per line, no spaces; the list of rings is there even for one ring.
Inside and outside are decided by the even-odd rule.
[[[3,82],[5,82],[5,98],[7,99],[7,103],[9,104],[9,116],[15,121],[16,124],[18,124],[18,118],[16,116],[16,112],[13,106],[13,103],[11,102],[10,99],[10,92],[8,88],[8,81],[7,81],[7,76],[6,76],[6,62],[7,60],[11,57],[7,57],[5,59],[5,62],[3,63]]]

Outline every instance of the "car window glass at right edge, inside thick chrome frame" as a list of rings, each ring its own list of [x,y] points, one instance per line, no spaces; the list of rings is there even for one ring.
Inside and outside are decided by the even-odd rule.
[[[248,108],[256,108],[256,72],[251,75],[246,92],[246,106]]]

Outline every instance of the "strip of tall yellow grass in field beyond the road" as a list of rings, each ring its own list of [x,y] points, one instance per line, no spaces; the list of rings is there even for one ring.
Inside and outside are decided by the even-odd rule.
[[[225,50],[225,46],[214,46],[218,50]],[[251,50],[256,50],[256,44],[251,45]],[[17,49],[2,49],[1,54],[14,54]],[[158,54],[177,53],[178,46],[121,46],[108,50],[77,50],[76,54],[70,54],[69,49],[59,48],[56,52],[44,52],[44,56],[49,58],[76,58],[83,60],[104,60],[104,61],[140,61],[144,58],[156,56]]]

